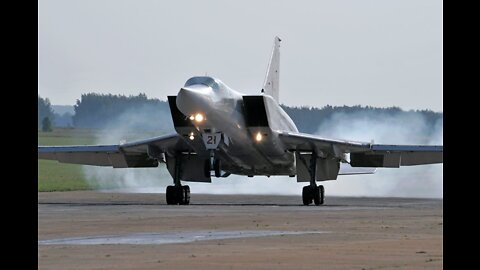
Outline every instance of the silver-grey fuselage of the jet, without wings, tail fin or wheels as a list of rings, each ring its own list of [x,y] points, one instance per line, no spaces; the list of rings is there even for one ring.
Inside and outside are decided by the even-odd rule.
[[[190,117],[199,133],[222,133],[223,140],[215,155],[222,160],[224,171],[242,175],[294,175],[294,154],[285,151],[278,138],[279,132],[298,132],[294,122],[272,97],[263,95],[268,126],[249,126],[244,96],[218,79],[193,77],[179,91],[176,105]],[[192,142],[197,152],[205,151],[196,145]]]

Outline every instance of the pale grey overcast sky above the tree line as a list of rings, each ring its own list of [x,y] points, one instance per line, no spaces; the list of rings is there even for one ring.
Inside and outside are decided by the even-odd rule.
[[[166,99],[196,75],[260,93],[282,38],[280,102],[443,111],[442,1],[38,1],[38,93]]]

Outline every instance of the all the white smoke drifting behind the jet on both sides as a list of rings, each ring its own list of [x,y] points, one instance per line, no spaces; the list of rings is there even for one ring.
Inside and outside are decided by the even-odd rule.
[[[154,130],[139,130],[144,124]],[[135,131],[133,133],[132,131]],[[171,116],[153,115],[149,110],[135,108],[120,115],[108,128],[99,132],[97,144],[114,144],[174,132]],[[434,125],[416,112],[382,114],[377,112],[334,113],[316,132],[328,138],[357,140],[381,144],[443,144],[443,120]],[[119,192],[165,193],[172,178],[165,164],[158,168],[112,169],[110,167],[83,166],[86,178],[99,189],[116,189]],[[300,195],[308,183],[297,183],[296,178],[272,176],[212,177],[212,183],[183,182],[190,186],[192,194],[276,194]],[[374,175],[339,176],[336,181],[323,184],[327,196],[393,196],[427,197],[443,196],[443,165],[378,169]]]

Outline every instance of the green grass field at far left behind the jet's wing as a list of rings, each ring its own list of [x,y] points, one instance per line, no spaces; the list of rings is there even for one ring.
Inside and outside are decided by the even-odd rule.
[[[97,144],[97,138],[107,137],[105,131],[91,129],[59,128],[52,132],[38,131],[38,145],[88,145]],[[128,134],[128,140],[158,135],[154,132]],[[109,141],[109,143],[118,143]],[[93,182],[93,181],[91,181]],[[96,189],[86,179],[82,165],[59,163],[53,160],[38,160],[38,191],[73,191]],[[105,188],[105,186],[102,186]]]

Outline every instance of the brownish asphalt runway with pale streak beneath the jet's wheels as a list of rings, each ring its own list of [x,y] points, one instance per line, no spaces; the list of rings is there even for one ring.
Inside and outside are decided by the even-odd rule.
[[[38,193],[39,269],[441,269],[443,200]]]

